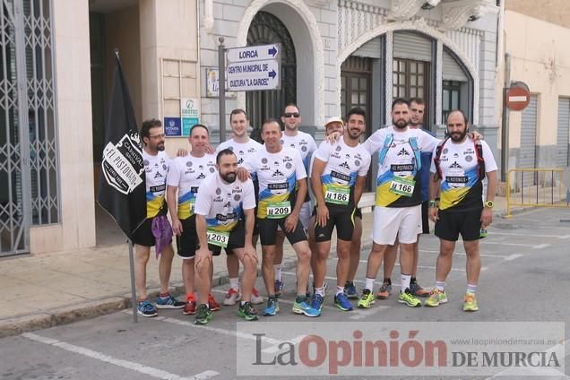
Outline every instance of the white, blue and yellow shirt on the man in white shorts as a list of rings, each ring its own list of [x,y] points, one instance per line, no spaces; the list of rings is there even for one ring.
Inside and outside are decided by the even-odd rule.
[[[376,178],[376,206],[410,207],[421,203],[421,176],[419,175],[419,153],[433,151],[439,140],[420,129],[406,128],[401,132],[391,125],[377,130],[362,144],[370,154],[382,151],[386,136],[392,140],[383,163],[378,157],[378,177]],[[418,160],[411,142],[418,144]],[[378,155],[380,156],[380,155]],[[418,161],[418,162],[417,162]],[[400,177],[400,178],[395,178]],[[404,185],[411,189],[408,195],[394,192],[394,185]]]

